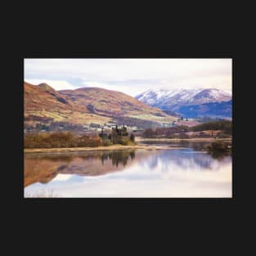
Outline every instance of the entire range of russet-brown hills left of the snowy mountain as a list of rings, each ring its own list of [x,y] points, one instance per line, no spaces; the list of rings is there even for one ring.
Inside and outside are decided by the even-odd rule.
[[[105,124],[126,120],[144,126],[145,121],[173,122],[176,117],[147,106],[123,92],[102,88],[56,91],[46,83],[24,83],[25,123]],[[143,122],[141,121],[143,120]]]

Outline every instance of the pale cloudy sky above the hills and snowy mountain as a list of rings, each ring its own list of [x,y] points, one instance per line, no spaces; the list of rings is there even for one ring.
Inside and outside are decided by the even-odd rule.
[[[56,90],[106,88],[135,97],[156,88],[231,92],[231,59],[25,59],[25,81]]]

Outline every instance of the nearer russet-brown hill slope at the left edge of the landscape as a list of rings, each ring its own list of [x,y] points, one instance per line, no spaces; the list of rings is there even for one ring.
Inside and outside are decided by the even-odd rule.
[[[109,119],[93,115],[87,106],[79,106],[56,92],[46,83],[33,85],[24,83],[24,115],[25,121],[31,124],[37,122],[67,122],[84,124],[88,120],[103,124]]]

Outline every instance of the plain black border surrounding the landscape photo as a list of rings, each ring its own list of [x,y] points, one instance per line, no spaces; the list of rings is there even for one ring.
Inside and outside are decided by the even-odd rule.
[[[148,4],[150,5],[150,4]],[[66,10],[64,9],[66,7]],[[5,237],[9,249],[21,241],[23,252],[33,254],[89,254],[103,249],[105,254],[121,245],[119,254],[166,254],[182,252],[204,255],[229,254],[240,248],[250,227],[253,193],[243,174],[240,150],[241,120],[246,119],[243,92],[248,82],[245,57],[249,55],[248,26],[231,8],[213,4],[194,7],[139,8],[124,2],[97,7],[62,3],[54,7],[43,2],[20,8],[19,15],[5,20],[6,36],[2,50],[7,80],[2,88],[2,118],[7,124],[2,172],[2,200],[7,203],[2,220],[7,222]],[[194,8],[193,8],[194,7]],[[11,9],[10,9],[11,10]],[[65,11],[64,11],[65,10]],[[240,12],[244,10],[241,8]],[[12,17],[14,20],[12,20]],[[247,17],[249,19],[249,15]],[[250,20],[248,20],[250,21]],[[242,43],[241,43],[242,42]],[[23,58],[25,57],[231,57],[234,99],[234,198],[231,200],[67,200],[23,198]],[[244,74],[241,70],[244,68]],[[7,72],[8,70],[9,72]],[[251,82],[250,82],[251,83]],[[243,84],[245,86],[243,87]],[[248,87],[246,87],[248,88]],[[245,100],[245,99],[244,99]],[[244,108],[244,109],[243,109]],[[251,113],[252,114],[252,113]],[[242,117],[242,119],[240,119]],[[7,135],[8,134],[8,135]],[[246,134],[246,132],[245,132]],[[143,242],[143,238],[144,241]],[[159,239],[158,246],[155,242]],[[93,246],[92,246],[93,245]],[[142,246],[140,251],[133,246]],[[108,251],[108,253],[107,253]]]

